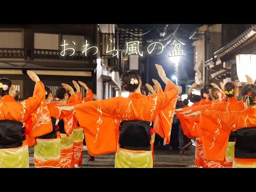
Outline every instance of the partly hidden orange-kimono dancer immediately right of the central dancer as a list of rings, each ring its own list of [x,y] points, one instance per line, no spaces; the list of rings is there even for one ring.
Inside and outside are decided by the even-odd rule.
[[[204,167],[204,149],[203,149],[202,138],[199,137],[198,132],[195,130],[197,123],[199,123],[199,117],[192,119],[180,113],[182,111],[190,110],[196,106],[209,105],[213,103],[213,101],[209,99],[210,98],[209,89],[206,89],[206,88],[201,89],[201,98],[203,98],[201,99],[201,101],[195,102],[194,105],[190,107],[184,107],[184,108],[180,108],[179,110],[176,110],[176,115],[180,120],[183,133],[187,135],[188,138],[191,138],[191,139],[196,138],[195,166],[198,166],[198,167]],[[195,134],[191,134],[191,133],[195,133]]]

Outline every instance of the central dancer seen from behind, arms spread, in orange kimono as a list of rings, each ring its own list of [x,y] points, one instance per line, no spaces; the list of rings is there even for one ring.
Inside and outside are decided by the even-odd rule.
[[[85,128],[90,155],[116,152],[115,167],[153,167],[150,129],[157,114],[176,100],[179,93],[178,87],[166,77],[162,66],[155,66],[166,84],[164,93],[142,95],[139,75],[135,71],[128,71],[122,75],[122,86],[131,93],[128,98],[116,97],[73,107],[58,107],[76,111],[79,123]],[[115,119],[121,120],[118,146]]]

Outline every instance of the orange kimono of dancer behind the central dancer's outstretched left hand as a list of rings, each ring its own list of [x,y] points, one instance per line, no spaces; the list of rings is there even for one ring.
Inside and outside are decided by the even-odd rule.
[[[73,106],[77,104],[75,94],[69,98],[66,106]],[[61,101],[51,102],[48,105],[51,117],[57,119],[60,128],[60,168],[73,168],[73,111],[60,110],[55,106],[64,106]]]

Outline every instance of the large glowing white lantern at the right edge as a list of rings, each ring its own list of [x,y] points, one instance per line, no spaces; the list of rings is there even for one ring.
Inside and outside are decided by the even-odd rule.
[[[256,54],[236,55],[236,70],[241,83],[247,82],[245,75],[249,75],[254,83],[256,80]]]

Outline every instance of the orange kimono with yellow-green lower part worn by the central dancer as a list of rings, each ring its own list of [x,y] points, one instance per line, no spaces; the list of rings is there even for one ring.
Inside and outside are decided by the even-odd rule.
[[[74,106],[78,121],[84,127],[88,153],[97,156],[117,152],[115,167],[153,167],[151,150],[129,150],[118,147],[115,119],[120,120],[121,123],[145,121],[151,125],[150,122],[165,109],[167,103],[177,99],[179,89],[173,82],[167,82],[165,90],[164,93],[150,96],[132,93],[128,98],[109,98]],[[87,118],[85,119],[84,116]],[[131,140],[132,135],[131,138],[126,139]]]

